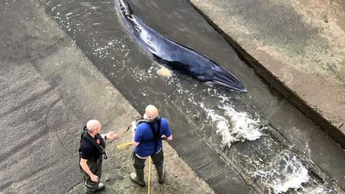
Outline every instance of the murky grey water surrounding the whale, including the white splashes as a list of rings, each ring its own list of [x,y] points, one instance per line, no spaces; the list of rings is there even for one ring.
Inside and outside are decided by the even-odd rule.
[[[187,1],[130,2],[147,25],[229,69],[249,92],[211,88],[162,70],[164,66],[146,55],[121,24],[114,0],[43,0],[42,4],[137,110],[144,111],[147,104],[160,108],[174,137],[182,139],[185,131],[192,130],[211,139],[264,193],[334,193],[299,153],[267,129],[262,116],[284,99]]]

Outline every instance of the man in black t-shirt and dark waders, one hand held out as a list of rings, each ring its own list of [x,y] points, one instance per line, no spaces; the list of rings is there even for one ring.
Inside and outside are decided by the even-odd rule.
[[[89,120],[84,127],[80,141],[80,167],[85,178],[85,194],[93,194],[105,188],[100,183],[102,170],[102,157],[106,159],[105,140],[117,138],[114,132],[102,134],[101,123],[98,120]]]

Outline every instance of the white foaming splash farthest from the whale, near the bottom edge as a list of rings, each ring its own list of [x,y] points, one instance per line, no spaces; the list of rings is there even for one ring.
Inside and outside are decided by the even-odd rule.
[[[273,191],[274,194],[287,192],[289,189],[298,189],[302,183],[309,181],[308,170],[295,155],[283,155],[266,170],[255,172],[260,181]]]

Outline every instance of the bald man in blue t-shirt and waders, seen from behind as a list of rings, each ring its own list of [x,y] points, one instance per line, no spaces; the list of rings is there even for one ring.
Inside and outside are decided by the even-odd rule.
[[[144,187],[144,167],[145,160],[151,156],[153,164],[156,166],[158,182],[163,183],[165,171],[163,168],[164,154],[162,140],[170,141],[173,135],[170,131],[166,119],[158,116],[158,110],[153,105],[145,109],[144,119],[139,121],[137,129],[133,131],[133,166],[135,172],[131,173],[131,180]]]

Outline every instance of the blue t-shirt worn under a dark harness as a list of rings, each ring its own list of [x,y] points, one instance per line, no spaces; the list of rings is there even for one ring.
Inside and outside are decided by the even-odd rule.
[[[157,131],[158,122],[154,123],[154,128]],[[168,122],[165,118],[161,118],[161,130],[160,135],[165,135],[170,137],[172,132],[170,131]],[[138,146],[135,147],[135,153],[141,157],[146,157],[155,154],[154,153],[154,138],[151,131],[151,127],[147,123],[140,123],[135,130],[134,141],[140,142]],[[157,151],[162,147],[162,139],[158,140]]]

